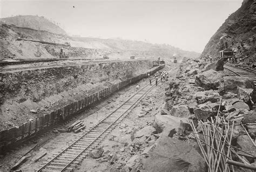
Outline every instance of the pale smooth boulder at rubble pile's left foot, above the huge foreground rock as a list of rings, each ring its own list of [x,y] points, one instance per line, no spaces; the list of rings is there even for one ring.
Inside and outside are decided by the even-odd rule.
[[[180,126],[180,121],[188,123],[186,118],[178,118],[171,115],[155,115],[153,127],[158,133],[163,132],[164,128],[177,129]]]

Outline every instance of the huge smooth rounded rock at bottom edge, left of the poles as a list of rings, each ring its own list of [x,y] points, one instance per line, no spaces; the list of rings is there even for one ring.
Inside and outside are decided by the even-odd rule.
[[[150,156],[143,159],[145,171],[206,171],[205,160],[190,144],[160,136]]]

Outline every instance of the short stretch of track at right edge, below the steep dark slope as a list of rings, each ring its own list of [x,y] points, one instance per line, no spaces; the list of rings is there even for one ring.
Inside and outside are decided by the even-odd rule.
[[[249,68],[233,67],[228,65],[224,65],[224,68],[235,76],[252,78],[253,84],[256,87],[256,71]]]

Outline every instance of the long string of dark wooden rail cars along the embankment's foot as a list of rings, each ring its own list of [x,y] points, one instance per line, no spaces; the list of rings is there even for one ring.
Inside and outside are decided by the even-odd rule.
[[[152,75],[161,68],[164,68],[164,65],[154,67],[147,71],[147,73],[143,73],[137,75],[136,77],[118,82],[117,84],[107,87],[104,90],[100,90],[99,92],[93,93],[82,100],[72,102],[72,104],[57,109],[56,111],[53,111],[49,114],[45,114],[33,121],[23,123],[23,125],[19,127],[2,130],[0,132],[0,147],[9,145],[10,143],[23,141],[37,134],[38,132],[49,129],[60,121],[70,118],[72,115],[78,113],[79,111],[83,111],[97,101],[109,97],[109,95],[120,90],[120,88],[123,88],[129,84],[133,84],[140,79],[146,78],[148,74]]]

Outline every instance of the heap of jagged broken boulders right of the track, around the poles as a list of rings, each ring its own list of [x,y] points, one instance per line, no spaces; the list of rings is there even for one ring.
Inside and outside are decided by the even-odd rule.
[[[234,123],[232,133],[228,133],[232,138],[230,146],[235,147],[238,154],[242,152],[243,156],[234,155],[233,160],[255,169],[256,110],[253,80],[228,76],[219,70],[221,65],[223,63],[220,61],[206,65],[204,61],[184,59],[179,74],[166,89],[165,109],[155,116],[154,122],[163,133],[169,127],[166,135],[177,135],[179,140],[186,142],[197,140],[191,134],[189,121],[193,121],[196,133],[201,135],[206,134],[202,130],[204,123],[219,124],[218,127],[224,133],[230,130],[223,126],[227,128]],[[180,121],[180,126],[175,121]],[[207,147],[205,143],[203,145]],[[240,166],[234,167],[241,170]]]

